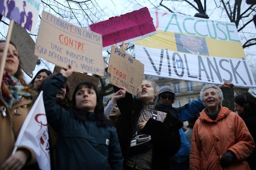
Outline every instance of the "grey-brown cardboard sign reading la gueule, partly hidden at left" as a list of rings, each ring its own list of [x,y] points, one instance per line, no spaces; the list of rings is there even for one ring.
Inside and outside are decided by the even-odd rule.
[[[12,28],[11,42],[18,49],[22,69],[28,76],[33,78],[33,71],[38,60],[38,57],[34,54],[36,43],[30,37],[29,33],[27,33],[26,29],[16,23],[14,23],[14,27]]]

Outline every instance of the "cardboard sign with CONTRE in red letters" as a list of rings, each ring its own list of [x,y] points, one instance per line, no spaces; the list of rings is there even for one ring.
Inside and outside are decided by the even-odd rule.
[[[75,72],[105,75],[101,35],[45,11],[42,13],[35,55],[66,69],[70,64]]]

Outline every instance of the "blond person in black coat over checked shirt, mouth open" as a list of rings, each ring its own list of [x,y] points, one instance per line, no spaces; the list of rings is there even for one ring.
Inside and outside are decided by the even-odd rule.
[[[138,89],[137,99],[126,92],[117,101],[122,113],[117,133],[125,169],[170,169],[168,158],[179,151],[183,123],[166,110],[155,110],[156,100],[155,83],[146,80]],[[139,144],[135,134],[144,134],[140,137],[151,140]]]

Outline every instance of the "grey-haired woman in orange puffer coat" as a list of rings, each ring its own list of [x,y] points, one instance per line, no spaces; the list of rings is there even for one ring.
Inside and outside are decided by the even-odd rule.
[[[223,95],[217,86],[203,86],[200,98],[206,108],[193,128],[190,169],[250,169],[244,160],[255,145],[244,121],[221,106]]]

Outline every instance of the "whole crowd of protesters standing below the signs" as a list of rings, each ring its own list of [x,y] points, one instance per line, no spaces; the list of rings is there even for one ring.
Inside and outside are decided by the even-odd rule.
[[[5,45],[0,41],[0,59]],[[69,93],[72,73],[72,66],[56,75],[42,69],[27,85],[10,43],[0,91],[0,170],[39,169],[31,148],[12,151],[40,91],[53,170],[255,169],[256,98],[250,93],[235,97],[238,114],[222,106],[223,93],[211,84],[203,86],[199,99],[175,108],[170,86],[157,90],[154,81],[143,80],[137,96],[114,86],[104,109],[90,82],[80,82]],[[191,123],[185,133],[184,121]]]

